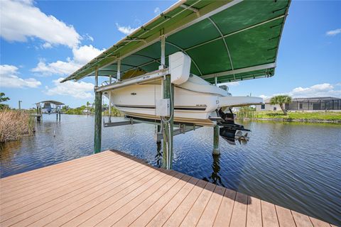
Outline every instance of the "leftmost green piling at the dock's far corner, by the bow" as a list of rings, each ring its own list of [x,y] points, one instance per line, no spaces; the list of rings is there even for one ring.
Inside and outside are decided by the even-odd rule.
[[[94,153],[101,151],[102,140],[102,92],[94,93]]]

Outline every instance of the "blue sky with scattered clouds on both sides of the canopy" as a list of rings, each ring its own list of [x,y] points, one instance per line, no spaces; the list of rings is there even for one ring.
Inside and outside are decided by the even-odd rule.
[[[75,72],[175,1],[0,1],[0,92],[12,108],[94,100]],[[341,1],[292,1],[274,77],[227,84],[234,96],[341,98]]]

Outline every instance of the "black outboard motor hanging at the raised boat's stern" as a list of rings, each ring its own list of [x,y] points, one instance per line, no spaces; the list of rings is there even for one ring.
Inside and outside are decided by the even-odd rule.
[[[249,131],[249,129],[234,123],[234,114],[231,109],[230,113],[227,114],[220,109],[218,114],[222,118],[222,121],[218,122],[218,125],[223,126],[220,128],[220,136],[231,145],[236,145],[236,140],[238,140],[240,144],[247,144],[249,137],[247,136],[247,133],[243,135],[242,131]]]

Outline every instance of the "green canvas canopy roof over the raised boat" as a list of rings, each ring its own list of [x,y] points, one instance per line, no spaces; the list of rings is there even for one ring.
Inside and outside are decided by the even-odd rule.
[[[168,55],[182,51],[192,59],[191,73],[209,82],[271,77],[290,0],[179,1],[120,40],[69,77],[116,77],[132,69],[158,70],[160,35]]]

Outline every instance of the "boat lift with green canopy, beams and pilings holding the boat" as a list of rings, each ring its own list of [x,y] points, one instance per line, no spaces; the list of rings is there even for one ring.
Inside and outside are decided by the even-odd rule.
[[[178,51],[190,56],[190,72],[216,85],[272,77],[290,2],[178,1],[63,79],[62,82],[77,81],[88,76],[95,78],[94,153],[101,151],[104,92],[161,79],[162,99],[169,99],[170,106],[169,113],[163,115],[157,123],[160,128],[156,138],[163,138],[163,167],[171,169],[173,135],[194,130],[196,126],[183,126],[174,122],[174,96],[171,95],[174,94],[174,84],[171,83],[166,56]],[[129,70],[140,69],[146,74],[124,78]],[[109,77],[109,83],[99,87],[99,76]],[[116,78],[115,82],[112,82],[112,77]],[[140,123],[142,120],[126,116],[126,121],[117,123],[111,122],[109,117],[104,127]],[[215,121],[217,123],[212,125],[212,153],[220,154],[220,133],[230,132],[222,131],[219,118]],[[234,123],[227,124],[227,127],[231,131],[241,128]],[[247,135],[238,133],[235,136],[239,142],[247,140]]]

